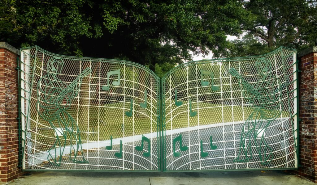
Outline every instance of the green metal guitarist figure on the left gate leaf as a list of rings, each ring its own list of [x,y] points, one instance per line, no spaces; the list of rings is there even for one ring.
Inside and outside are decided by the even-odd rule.
[[[72,100],[78,95],[83,78],[91,73],[91,69],[87,67],[68,85],[58,78],[63,67],[64,61],[61,58],[56,57],[49,59],[47,63],[48,74],[41,77],[37,85],[37,106],[39,106],[37,111],[44,120],[49,122],[56,133],[55,143],[51,149],[49,149],[49,155],[47,157],[49,162],[56,166],[60,166],[61,164],[61,156],[65,150],[67,139],[70,139],[70,150],[74,151],[74,158],[69,157],[69,159],[74,163],[88,163],[83,155],[79,127],[67,110]],[[59,135],[63,137],[63,143]],[[69,135],[70,138],[68,138],[67,135]],[[56,144],[58,144],[58,146],[56,146]],[[74,147],[74,145],[76,145],[76,147]],[[56,147],[60,148],[59,152],[56,151]],[[82,157],[81,160],[77,157],[79,151],[81,153],[79,155]]]

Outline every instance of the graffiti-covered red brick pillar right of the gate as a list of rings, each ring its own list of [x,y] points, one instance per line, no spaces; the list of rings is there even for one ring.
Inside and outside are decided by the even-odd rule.
[[[299,52],[300,167],[298,174],[317,182],[317,46]]]

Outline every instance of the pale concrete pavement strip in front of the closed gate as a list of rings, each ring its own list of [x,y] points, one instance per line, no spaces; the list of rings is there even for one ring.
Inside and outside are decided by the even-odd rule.
[[[28,176],[27,176],[28,175]],[[1,183],[0,183],[1,184]],[[281,170],[228,172],[31,172],[5,183],[8,185],[312,185],[297,175]]]

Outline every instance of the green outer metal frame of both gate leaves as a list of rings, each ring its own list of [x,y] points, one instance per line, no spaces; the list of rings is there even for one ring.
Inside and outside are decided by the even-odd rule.
[[[31,48],[34,48],[37,47],[40,48],[39,46],[31,46],[31,47],[27,47],[27,48],[21,48],[21,51],[22,50],[25,50],[25,49],[31,49]],[[51,52],[48,52],[42,48],[40,48],[41,50],[47,52],[47,53],[50,53],[50,54],[53,54],[53,55],[58,55],[58,54],[55,54],[55,53],[51,53]],[[173,70],[177,69],[178,67],[180,66],[183,66],[183,65],[191,65],[195,62],[200,62],[200,61],[204,61],[204,64],[208,64],[208,63],[214,63],[214,62],[218,62],[218,61],[221,61],[221,60],[240,60],[242,61],[243,59],[249,59],[249,58],[255,58],[255,57],[261,57],[261,56],[267,56],[269,54],[272,54],[280,49],[287,49],[287,50],[291,50],[291,51],[294,51],[296,53],[296,50],[294,49],[289,49],[289,48],[286,48],[286,47],[279,47],[278,49],[274,50],[273,52],[269,52],[267,54],[263,54],[263,55],[259,55],[259,56],[250,56],[250,57],[237,57],[237,58],[224,58],[224,59],[210,59],[210,60],[197,60],[197,61],[191,61],[191,62],[188,62],[188,63],[184,63],[184,64],[181,64],[181,65],[178,65],[176,67],[174,67],[173,69],[171,69],[170,71],[168,71],[165,76],[167,76],[168,74],[170,74],[171,72],[173,72]],[[61,56],[61,57],[69,57],[69,58],[73,58],[74,60],[81,60],[81,59],[94,59],[94,60],[98,60],[98,59],[102,59],[102,58],[84,58],[84,57],[73,57],[73,56],[66,56],[66,55],[58,55],[58,56]],[[296,55],[297,56],[297,55]],[[24,156],[24,151],[23,151],[23,144],[22,144],[22,140],[25,141],[25,138],[23,139],[22,138],[22,126],[21,126],[21,107],[22,107],[22,104],[21,104],[21,67],[20,67],[20,63],[22,62],[19,58],[17,59],[17,70],[18,70],[18,93],[19,93],[19,96],[18,96],[18,109],[19,109],[19,114],[18,114],[18,122],[19,122],[19,125],[18,125],[18,129],[19,129],[19,165],[18,167],[22,167],[22,162],[23,162],[23,156]],[[294,123],[293,123],[293,136],[294,136],[294,142],[295,142],[295,155],[297,157],[297,168],[257,168],[257,169],[229,169],[229,170],[166,170],[166,156],[165,156],[165,144],[164,144],[164,138],[165,138],[165,135],[164,135],[164,131],[165,131],[165,117],[163,115],[165,115],[164,110],[163,110],[163,90],[162,90],[162,81],[164,79],[164,77],[162,77],[162,79],[160,79],[152,70],[150,70],[149,68],[147,68],[146,66],[143,66],[143,65],[140,65],[138,63],[134,63],[134,62],[130,62],[130,61],[125,61],[125,60],[116,60],[116,59],[102,59],[102,60],[111,60],[111,61],[114,61],[113,63],[115,63],[115,61],[120,61],[120,62],[124,62],[125,64],[127,65],[137,65],[139,66],[139,68],[141,69],[144,69],[146,70],[147,72],[149,72],[153,77],[155,78],[158,78],[159,80],[159,93],[158,93],[158,96],[159,96],[159,103],[158,103],[158,112],[159,112],[159,116],[158,116],[158,119],[157,119],[157,126],[158,126],[158,130],[157,130],[157,137],[158,137],[158,142],[159,142],[159,146],[158,146],[158,170],[46,170],[46,169],[41,169],[41,170],[30,170],[30,169],[23,169],[22,171],[128,171],[128,172],[131,172],[131,171],[141,171],[141,172],[157,172],[157,171],[162,171],[162,172],[177,172],[177,171],[181,171],[181,172],[198,172],[198,171],[245,171],[245,170],[297,170],[298,167],[300,166],[300,161],[299,161],[299,122],[301,121],[301,119],[299,119],[298,115],[299,115],[299,101],[298,101],[298,98],[299,98],[299,80],[298,80],[298,77],[299,77],[299,68],[298,68],[298,60],[296,59],[296,62],[293,63],[292,65],[295,65],[296,67],[296,70],[293,72],[294,74],[296,74],[296,79],[293,81],[296,83],[296,88],[294,90],[296,90],[296,114],[294,114],[293,116],[296,116],[296,127],[297,128],[294,128]],[[200,63],[202,64],[202,63]],[[292,73],[292,74],[293,74]],[[32,80],[33,82],[33,80]],[[291,82],[291,83],[293,83]],[[294,108],[295,108],[295,105],[294,105]],[[293,117],[291,116],[291,117]],[[296,132],[296,134],[295,134]],[[295,135],[297,136],[295,138]],[[26,137],[26,134],[25,134],[25,137]],[[25,145],[25,142],[24,142],[24,145]]]

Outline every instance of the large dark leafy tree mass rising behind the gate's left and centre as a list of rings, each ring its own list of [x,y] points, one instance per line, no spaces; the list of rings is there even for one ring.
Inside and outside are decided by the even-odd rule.
[[[241,33],[242,1],[17,1],[20,39],[60,54],[125,59],[163,73],[194,54],[225,50]],[[15,37],[12,36],[12,37]],[[11,37],[10,37],[11,38]],[[9,37],[6,40],[10,39]]]

